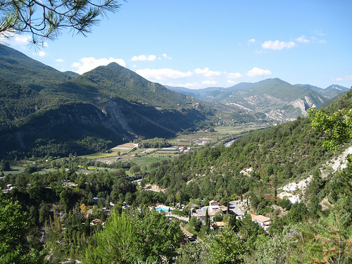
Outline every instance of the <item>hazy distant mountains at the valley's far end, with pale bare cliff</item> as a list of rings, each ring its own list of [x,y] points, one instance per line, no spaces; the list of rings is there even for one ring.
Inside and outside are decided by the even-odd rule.
[[[256,83],[241,82],[228,88],[166,87],[202,101],[224,103],[248,113],[265,113],[267,118],[282,122],[306,115],[308,108],[318,107],[349,90],[339,85],[331,85],[326,89],[309,84],[292,85],[278,78]]]

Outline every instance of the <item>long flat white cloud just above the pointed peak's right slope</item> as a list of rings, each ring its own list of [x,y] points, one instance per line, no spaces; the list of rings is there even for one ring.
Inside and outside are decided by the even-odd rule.
[[[144,69],[136,70],[136,73],[146,78],[147,80],[170,80],[181,79],[193,75],[190,71],[182,73],[180,70],[172,70],[168,68],[163,69]]]

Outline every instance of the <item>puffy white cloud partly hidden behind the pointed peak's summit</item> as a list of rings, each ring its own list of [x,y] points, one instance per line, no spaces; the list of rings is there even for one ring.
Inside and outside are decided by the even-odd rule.
[[[88,72],[89,70],[93,70],[98,66],[106,66],[109,63],[118,63],[121,66],[125,67],[126,63],[122,60],[122,58],[81,58],[80,63],[73,63],[71,66],[73,68],[78,68],[75,70],[76,73],[83,74]]]

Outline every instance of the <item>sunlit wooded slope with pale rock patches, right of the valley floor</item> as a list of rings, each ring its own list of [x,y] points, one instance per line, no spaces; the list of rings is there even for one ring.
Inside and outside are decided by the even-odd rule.
[[[272,187],[308,176],[331,156],[331,152],[322,149],[322,139],[310,127],[308,118],[298,118],[251,132],[230,147],[205,146],[179,156],[144,180],[168,188],[170,194],[182,192],[184,201],[240,195],[254,186],[273,194]]]

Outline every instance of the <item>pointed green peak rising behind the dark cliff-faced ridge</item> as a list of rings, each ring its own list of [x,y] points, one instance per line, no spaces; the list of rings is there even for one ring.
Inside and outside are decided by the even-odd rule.
[[[191,96],[173,92],[161,84],[150,82],[118,63],[97,67],[73,80],[58,84],[51,90],[65,93],[66,96],[75,99],[88,100],[96,105],[116,96],[160,108],[187,107],[199,103],[199,100]]]

